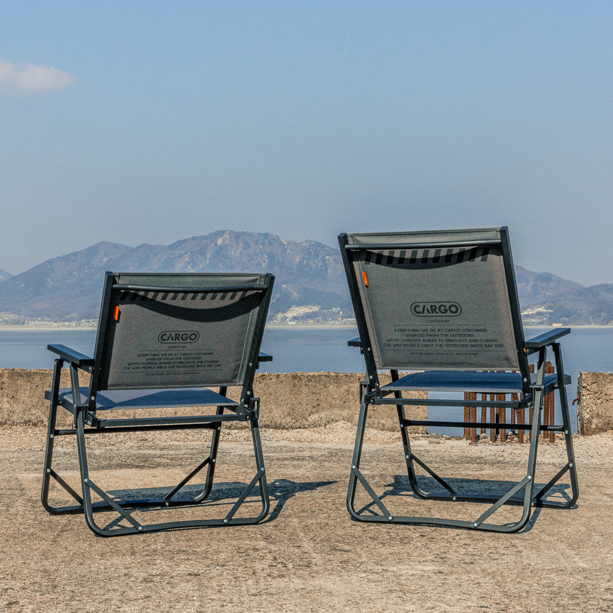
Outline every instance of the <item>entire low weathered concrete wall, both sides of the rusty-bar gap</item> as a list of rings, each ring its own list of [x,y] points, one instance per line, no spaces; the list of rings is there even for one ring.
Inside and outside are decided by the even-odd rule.
[[[362,376],[327,372],[258,373],[254,392],[261,398],[261,425],[263,428],[308,428],[339,421],[356,424]],[[386,379],[382,381],[387,383]],[[81,384],[87,383],[88,376],[82,374]],[[69,385],[68,371],[64,369],[62,386]],[[0,369],[0,425],[45,425],[49,408],[44,394],[50,386],[51,370]],[[579,389],[579,433],[590,435],[613,430],[613,373],[579,373]],[[568,388],[568,394],[572,402],[573,390]],[[233,396],[232,390],[229,395]],[[414,397],[425,398],[425,394]],[[61,425],[68,426],[70,416],[64,413]],[[407,414],[414,419],[425,419],[427,408],[414,407]],[[368,427],[397,430],[395,408],[371,409]],[[414,431],[423,433],[425,428],[414,428]]]

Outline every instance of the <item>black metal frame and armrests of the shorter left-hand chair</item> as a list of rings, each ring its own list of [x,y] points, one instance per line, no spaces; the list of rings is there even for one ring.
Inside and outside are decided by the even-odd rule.
[[[109,284],[112,284],[111,273],[107,273],[107,290]],[[251,362],[245,378],[245,384],[242,389],[242,403],[228,401],[227,404],[215,406],[214,414],[197,415],[197,416],[177,416],[177,417],[140,417],[140,418],[123,418],[123,419],[100,419],[96,412],[96,389],[94,385],[94,376],[90,378],[90,387],[82,388],[79,386],[78,371],[82,370],[88,373],[93,373],[95,361],[88,356],[72,351],[63,345],[48,346],[50,351],[59,354],[59,358],[55,360],[53,368],[53,379],[51,389],[45,394],[45,397],[50,400],[49,420],[47,430],[47,446],[45,449],[44,472],[42,481],[41,501],[44,508],[54,515],[64,514],[85,514],[85,521],[88,527],[97,535],[100,536],[117,536],[133,533],[143,533],[148,531],[168,530],[172,528],[192,528],[192,527],[211,527],[225,525],[244,525],[257,524],[267,516],[270,509],[270,501],[268,497],[268,485],[265,476],[264,456],[262,454],[262,444],[259,435],[259,398],[253,397],[253,379],[254,372],[259,366],[259,362],[267,362],[272,360],[272,356],[263,354],[259,351],[262,333],[264,329],[265,316],[270,302],[270,289],[272,289],[273,277],[268,276],[268,284],[265,288],[266,294],[264,305],[259,309],[259,320],[256,322],[256,343],[254,350],[255,357],[250,356]],[[175,288],[178,291],[181,288]],[[185,290],[193,288],[184,288]],[[101,309],[101,322],[104,322],[105,314],[105,299],[103,297],[103,305]],[[102,323],[104,326],[104,323]],[[99,337],[104,338],[104,330],[99,330]],[[60,376],[64,363],[67,362],[70,370],[70,384],[72,389],[71,398],[78,398],[83,401],[85,394],[85,402],[70,402],[70,397],[60,396]],[[227,386],[219,387],[219,395],[225,397]],[[58,406],[63,406],[73,415],[72,428],[57,428],[56,420]],[[93,407],[93,408],[92,408]],[[213,408],[213,407],[211,407]],[[230,413],[224,413],[224,409],[229,409]],[[215,466],[218,455],[218,445],[221,436],[221,425],[228,421],[249,422],[251,428],[251,437],[253,440],[254,459],[255,459],[255,474],[251,481],[245,486],[243,492],[239,495],[229,512],[224,517],[219,519],[197,519],[197,520],[179,520],[170,522],[161,522],[154,524],[143,525],[129,512],[129,509],[145,509],[145,508],[169,508],[176,506],[194,506],[207,501],[213,487],[213,478],[215,476]],[[99,487],[90,477],[88,468],[88,457],[86,451],[86,438],[89,435],[117,432],[148,432],[159,430],[186,430],[186,429],[202,429],[207,428],[212,431],[210,451],[208,456],[199,463],[189,474],[185,476],[175,487],[169,489],[169,492],[163,498],[147,498],[140,500],[116,500],[115,497],[109,495],[101,487]],[[77,441],[77,454],[81,477],[81,491],[79,495],[67,481],[62,478],[53,468],[53,447],[57,436],[75,436]],[[183,487],[188,484],[197,474],[204,468],[207,468],[205,482],[202,491],[195,497],[182,497],[180,492]],[[77,504],[70,506],[53,506],[49,503],[49,489],[51,479],[61,486],[67,493],[70,494]],[[245,503],[246,499],[259,486],[259,498],[261,499],[261,511],[257,516],[253,517],[235,517],[238,509]],[[95,493],[101,501],[93,502],[92,493]],[[117,525],[116,527],[101,527],[96,524],[94,516],[96,512],[101,511],[116,511],[118,523],[124,520],[129,525]]]

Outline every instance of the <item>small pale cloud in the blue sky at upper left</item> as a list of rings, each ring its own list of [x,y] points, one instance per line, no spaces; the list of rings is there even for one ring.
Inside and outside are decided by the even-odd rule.
[[[0,93],[36,96],[74,83],[73,77],[53,66],[19,65],[0,59]]]

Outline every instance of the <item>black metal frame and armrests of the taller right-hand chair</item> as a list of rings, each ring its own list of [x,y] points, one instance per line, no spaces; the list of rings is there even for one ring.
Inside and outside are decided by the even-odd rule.
[[[508,243],[508,235],[506,234],[506,228],[500,229],[501,242],[503,247],[503,254],[505,256],[505,263],[512,262],[511,251]],[[560,344],[557,339],[570,332],[569,329],[557,329],[552,330],[549,333],[540,335],[533,338],[530,341],[523,340],[523,333],[518,337],[522,328],[519,319],[519,301],[516,295],[516,285],[514,273],[511,268],[506,267],[506,277],[509,287],[509,298],[511,299],[511,307],[517,305],[517,308],[513,309],[514,324],[516,324],[516,338],[520,341],[518,343],[518,351],[520,357],[520,370],[522,371],[522,379],[524,381],[523,393],[520,395],[517,401],[492,401],[492,400],[447,400],[447,399],[430,399],[424,401],[414,398],[403,398],[402,390],[384,390],[379,387],[378,372],[373,358],[373,351],[371,351],[372,340],[369,337],[367,326],[365,325],[365,314],[362,303],[359,298],[359,291],[356,283],[356,278],[351,272],[351,263],[349,252],[358,249],[390,249],[394,246],[386,245],[350,245],[346,234],[341,234],[339,237],[339,243],[341,247],[341,254],[345,264],[347,272],[347,278],[349,282],[349,291],[352,295],[354,308],[356,309],[356,319],[358,323],[358,330],[360,337],[349,341],[350,346],[359,346],[362,354],[364,354],[366,362],[366,377],[365,381],[360,384],[360,414],[357,424],[356,443],[354,446],[354,454],[351,464],[351,473],[349,476],[349,487],[347,494],[347,508],[349,514],[356,520],[364,522],[379,522],[379,523],[392,523],[392,524],[425,524],[425,525],[441,525],[446,527],[455,528],[468,528],[471,530],[487,530],[497,532],[516,532],[522,530],[527,525],[530,519],[531,509],[535,507],[554,507],[554,508],[571,508],[579,497],[579,485],[577,481],[576,462],[574,460],[573,451],[573,439],[571,434],[571,421],[568,409],[568,399],[566,397],[566,384],[570,383],[570,378],[564,375],[564,367],[562,362],[562,352],[560,350]],[[470,244],[473,245],[474,242]],[[429,246],[429,245],[427,245]],[[436,245],[440,246],[440,245]],[[406,245],[402,245],[405,248]],[[519,323],[519,327],[517,324]],[[547,356],[547,348],[552,348],[555,359],[555,371],[557,375],[555,377],[549,376],[546,378],[545,364]],[[524,375],[528,373],[528,361],[527,357],[531,354],[538,354],[537,357],[537,370],[536,378],[531,379],[530,375]],[[525,359],[522,359],[525,358]],[[392,383],[398,381],[398,370],[390,369],[392,377]],[[550,392],[557,390],[560,397],[560,405],[562,409],[562,424],[560,425],[542,425],[541,414],[544,406],[544,398]],[[387,398],[390,393],[394,394],[394,398]],[[506,398],[506,395],[505,395]],[[457,407],[495,407],[495,408],[513,408],[521,409],[529,406],[534,407],[533,419],[531,424],[501,424],[501,423],[483,423],[483,422],[460,422],[460,421],[423,421],[416,419],[407,419],[405,414],[406,405],[424,405],[428,406],[457,406]],[[441,501],[460,501],[460,502],[476,502],[476,503],[488,503],[489,509],[483,512],[479,517],[473,521],[463,521],[455,519],[445,519],[440,517],[420,517],[420,516],[394,516],[387,509],[386,505],[381,500],[373,487],[371,487],[368,480],[360,470],[360,460],[362,457],[362,446],[364,443],[364,432],[368,416],[368,408],[373,405],[395,405],[398,413],[398,424],[402,435],[403,452],[406,460],[406,471],[408,474],[409,484],[414,496],[417,498],[441,500]],[[503,493],[500,497],[493,497],[483,494],[465,494],[458,493],[454,488],[438,475],[430,466],[428,466],[423,460],[417,457],[411,450],[411,444],[409,442],[408,428],[411,425],[430,425],[430,426],[442,426],[442,427],[491,427],[491,428],[515,428],[519,430],[530,430],[530,447],[528,451],[527,471],[524,478],[520,479],[511,489]],[[543,431],[554,431],[563,433],[566,443],[566,459],[565,465],[547,482],[546,485],[541,487],[535,492],[535,472],[536,472],[536,455],[539,443],[539,433]],[[447,493],[428,493],[425,492],[417,482],[416,465],[420,466],[431,478],[433,478],[438,484],[440,484]],[[557,484],[560,479],[568,473],[570,485],[571,485],[571,497],[564,502],[547,501],[545,497],[548,492]],[[360,483],[367,491],[371,498],[371,503],[363,506],[360,511],[355,508],[355,497],[357,484]],[[521,490],[524,490],[523,497],[520,496]],[[492,524],[487,520],[492,516],[503,504],[513,504],[522,506],[522,516],[517,522],[512,524]],[[375,514],[373,508],[379,509],[381,514]],[[364,511],[368,509],[367,514]]]

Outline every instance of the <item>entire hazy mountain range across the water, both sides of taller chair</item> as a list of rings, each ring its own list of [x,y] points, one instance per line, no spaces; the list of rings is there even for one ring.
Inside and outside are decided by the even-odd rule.
[[[0,321],[95,319],[106,270],[272,272],[276,281],[269,319],[320,322],[353,316],[338,248],[219,230],[172,245],[97,243],[4,281],[0,277]],[[584,287],[520,266],[516,278],[527,324],[613,324],[613,284]]]

